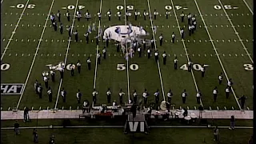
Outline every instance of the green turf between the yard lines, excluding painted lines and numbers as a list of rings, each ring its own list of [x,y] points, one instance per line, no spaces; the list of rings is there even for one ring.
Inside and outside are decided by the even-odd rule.
[[[34,58],[34,53],[36,52],[36,48],[38,47],[38,39],[42,35],[43,26],[46,22],[46,15],[50,10],[51,2],[51,0],[30,0],[29,4],[34,4],[36,6],[34,9],[27,8],[25,10],[24,15],[22,16],[22,20],[19,22],[16,33],[14,34],[13,40],[8,46],[9,49],[6,50],[6,54],[2,59],[2,63],[10,64],[9,70],[1,70],[2,83],[26,82],[27,74],[29,73],[32,60]],[[179,26],[186,26],[184,29],[186,31],[186,41],[184,46],[179,35],[179,30],[177,27],[178,24],[174,15],[174,9],[172,8],[172,10],[170,10],[171,16],[168,19],[166,19],[165,16],[165,6],[172,6],[172,2],[174,3],[174,6],[182,6],[182,8],[188,8],[187,10],[177,10],[177,8],[175,8],[175,14],[178,15]],[[198,106],[195,98],[197,92],[196,87],[198,87],[198,90],[202,92],[202,104],[206,107],[206,109],[209,109],[209,107],[211,107],[212,109],[217,109],[218,106],[220,109],[223,110],[224,106],[226,106],[227,109],[231,110],[233,106],[234,109],[238,110],[238,104],[235,101],[233,94],[230,94],[229,99],[225,98],[225,77],[222,86],[218,86],[218,74],[220,74],[221,72],[223,73],[222,67],[220,65],[220,62],[218,61],[218,58],[216,57],[214,47],[209,41],[210,38],[206,33],[206,29],[202,22],[202,18],[199,15],[198,8],[195,2],[197,2],[199,6],[199,10],[203,15],[202,18],[206,22],[206,26],[208,26],[210,36],[214,40],[214,46],[218,50],[220,61],[222,62],[226,74],[234,81],[233,88],[236,96],[240,97],[242,94],[246,94],[248,98],[246,101],[246,106],[252,109],[252,71],[245,70],[243,66],[244,64],[251,64],[252,62],[250,62],[250,59],[246,55],[246,51],[243,49],[241,42],[239,42],[237,35],[234,34],[234,30],[231,27],[230,22],[226,18],[224,11],[214,9],[215,5],[220,5],[218,3],[218,0],[163,0],[161,2],[150,0],[149,4],[151,14],[154,13],[154,9],[156,9],[159,14],[161,14],[161,16],[158,15],[157,20],[153,20],[153,25],[158,26],[158,32],[155,35],[155,38],[157,40],[156,48],[159,50],[161,55],[159,64],[162,85],[160,82],[158,66],[156,62],[154,62],[154,57],[148,60],[146,57],[144,57],[143,53],[143,57],[138,58],[138,54],[136,53],[134,58],[130,59],[129,61],[129,66],[131,64],[138,64],[139,66],[139,69],[136,71],[129,69],[130,95],[132,94],[133,90],[137,90],[139,98],[142,98],[142,92],[146,88],[150,93],[149,100],[153,102],[153,94],[155,90],[160,90],[160,99],[162,100],[162,89],[164,90],[165,98],[166,93],[169,89],[171,89],[174,93],[172,104],[174,104],[176,108],[178,108],[179,106],[189,106],[190,109],[194,109],[194,106]],[[252,6],[252,1],[246,2],[249,6]],[[5,41],[2,43],[2,52],[3,48],[7,45],[11,32],[14,30],[14,26],[18,22],[19,14],[21,14],[23,10],[18,8],[10,8],[10,6],[17,6],[18,3],[26,4],[26,1],[4,1],[2,3],[2,41],[3,39],[5,39]],[[59,109],[62,109],[62,106],[64,106],[64,109],[69,109],[70,106],[72,106],[72,109],[76,109],[77,106],[81,107],[81,105],[77,104],[76,100],[76,91],[78,89],[80,89],[82,92],[82,100],[92,100],[91,93],[94,88],[96,46],[95,42],[90,42],[89,44],[86,44],[83,34],[86,32],[87,26],[89,24],[92,25],[92,23],[94,22],[96,26],[98,26],[98,18],[95,17],[94,14],[96,14],[100,9],[100,1],[95,0],[78,1],[78,6],[86,6],[84,9],[81,10],[82,15],[86,12],[86,10],[89,10],[93,18],[91,18],[88,22],[85,18],[82,18],[80,22],[78,22],[77,19],[74,20],[74,30],[78,30],[79,40],[82,40],[82,42],[74,42],[74,38],[72,38],[73,41],[70,42],[70,50],[67,56],[66,63],[76,63],[78,62],[78,60],[80,60],[82,62],[82,74],[78,74],[77,71],[75,71],[74,77],[70,77],[70,71],[66,70],[66,73],[64,74],[64,81],[62,82],[62,87],[64,87],[67,91],[67,102],[63,103],[62,98],[57,97],[60,84],[58,80],[58,72],[56,73],[57,81],[54,83],[50,81],[49,83],[54,94],[52,103],[48,102],[45,89],[43,91],[42,99],[38,99],[38,96],[34,94],[35,79],[38,79],[38,81],[41,82],[44,86],[44,82],[42,82],[42,71],[48,70],[46,64],[58,64],[58,62],[63,62],[66,58],[66,48],[68,47],[66,26],[72,25],[72,16],[74,14],[74,10],[69,10],[71,17],[70,22],[67,22],[66,17],[63,15],[66,14],[66,10],[62,10],[62,7],[70,5],[75,6],[75,4],[76,0],[54,1],[51,12],[57,14],[58,10],[61,11],[64,34],[59,34],[59,31],[55,32],[53,27],[50,27],[50,19],[48,20],[46,25],[47,27],[43,33],[42,42],[40,43],[38,49],[38,55],[35,58],[34,65],[31,70],[28,82],[26,84],[24,94],[22,95],[22,98],[20,98],[20,95],[2,95],[1,106],[3,110],[7,110],[9,107],[12,107],[13,103],[17,105],[19,99],[21,99],[18,106],[19,109],[23,109],[24,106],[34,106],[34,109],[37,110],[39,109],[39,107],[42,107],[42,109],[46,109],[47,106],[49,106],[49,108],[54,108],[57,101],[57,107]],[[252,54],[253,36],[251,31],[253,29],[253,22],[250,10],[246,7],[244,2],[238,0],[222,0],[222,4],[238,6],[238,9],[236,10],[226,10],[226,13],[230,15],[235,29],[238,31],[239,36],[243,40],[242,42],[246,46],[248,52]],[[116,7],[123,5],[124,2],[118,0],[102,1],[101,26],[103,31],[109,26],[125,25],[125,18],[122,17],[122,20],[118,21],[118,18],[114,16],[114,14],[118,12]],[[146,0],[126,0],[126,6],[134,6],[134,9],[140,11],[141,14],[143,10],[148,11],[149,9]],[[105,17],[106,11],[109,9],[112,10],[113,14],[111,21],[109,21],[108,18]],[[134,14],[134,10],[129,11]],[[184,11],[184,14],[197,14],[196,18],[198,27],[195,31],[195,34],[193,34],[192,36],[188,36],[186,18],[185,22],[181,22],[181,18],[179,15],[182,11]],[[124,10],[121,10],[121,12],[123,14]],[[10,13],[12,13],[12,15],[10,15]],[[218,16],[216,16],[216,14]],[[131,22],[134,26],[143,26],[146,32],[150,33],[147,38],[152,37],[152,30],[150,28],[151,23],[148,17],[146,18],[146,21],[143,20],[143,17],[138,17],[138,20],[135,21],[134,16],[132,16],[129,18],[128,22]],[[10,24],[12,24],[12,26],[10,26]],[[28,27],[27,25],[30,25],[30,27]],[[218,27],[215,27],[216,25]],[[245,25],[245,27],[243,25]],[[199,26],[201,26],[201,28]],[[170,36],[172,32],[176,34],[176,39],[178,40],[178,42],[170,43]],[[96,34],[96,32],[90,34],[90,40],[94,40],[94,36]],[[167,40],[167,42],[164,42],[163,46],[159,46],[158,37],[160,34],[163,34],[164,39]],[[27,39],[30,39],[30,42],[27,42]],[[222,40],[224,40],[225,42],[222,42]],[[230,40],[230,42],[228,42],[228,40]],[[234,42],[234,40],[236,42]],[[105,43],[101,41],[98,50],[102,51],[103,46],[105,46]],[[188,73],[185,70],[174,70],[174,54],[178,56],[178,67],[187,63],[184,47],[186,47],[186,50],[194,63],[200,65],[209,65],[206,68],[205,78],[201,78],[200,71],[193,70],[195,78],[194,82],[191,73]],[[166,66],[162,64],[163,51],[166,51],[166,54],[168,55]],[[22,56],[22,54],[24,55]],[[86,66],[86,58],[88,58],[90,54],[92,70],[89,71],[87,70]],[[123,57],[123,54],[121,55],[121,53],[118,54],[116,52],[114,42],[110,42],[110,46],[107,48],[107,54],[110,54],[110,56],[107,56],[106,60],[102,59],[102,64],[98,65],[97,67],[95,86],[96,89],[99,91],[98,103],[106,102],[106,90],[109,87],[112,91],[112,100],[115,99],[118,101],[118,92],[122,88],[122,90],[126,93],[124,101],[127,102],[129,98],[127,89],[127,73],[126,70],[117,70],[117,65],[123,63],[126,66],[126,61]],[[229,54],[231,56],[229,56]],[[129,66],[126,66],[126,69]],[[218,86],[219,91],[218,100],[215,103],[213,102],[212,96],[212,90],[214,89],[214,86]],[[188,92],[186,104],[182,104],[181,98],[182,90],[184,89],[186,89],[186,91]]]

